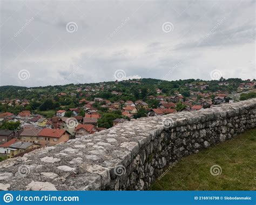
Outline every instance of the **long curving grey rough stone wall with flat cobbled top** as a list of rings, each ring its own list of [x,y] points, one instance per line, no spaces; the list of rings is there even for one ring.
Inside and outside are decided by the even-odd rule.
[[[0,163],[2,190],[145,190],[181,157],[255,127],[256,99],[148,117]]]

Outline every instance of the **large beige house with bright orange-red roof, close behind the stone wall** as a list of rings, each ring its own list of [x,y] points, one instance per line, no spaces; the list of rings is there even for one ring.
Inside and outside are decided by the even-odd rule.
[[[38,133],[38,141],[42,146],[57,145],[62,142],[67,142],[69,138],[69,133],[62,129],[45,128]]]

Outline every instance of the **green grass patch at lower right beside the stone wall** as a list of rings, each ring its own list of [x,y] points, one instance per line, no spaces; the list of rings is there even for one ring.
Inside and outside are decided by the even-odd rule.
[[[210,172],[212,166],[215,171]],[[256,190],[256,129],[183,160],[156,179],[151,190]]]

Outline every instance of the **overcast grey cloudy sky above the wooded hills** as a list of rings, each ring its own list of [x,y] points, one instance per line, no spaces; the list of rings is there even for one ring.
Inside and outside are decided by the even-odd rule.
[[[0,1],[0,86],[255,77],[255,1]]]

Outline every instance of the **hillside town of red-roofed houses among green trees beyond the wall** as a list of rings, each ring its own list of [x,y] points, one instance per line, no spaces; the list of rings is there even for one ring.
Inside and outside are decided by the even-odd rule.
[[[133,79],[0,87],[0,159],[109,129],[132,118],[189,112],[256,97],[255,80]]]

